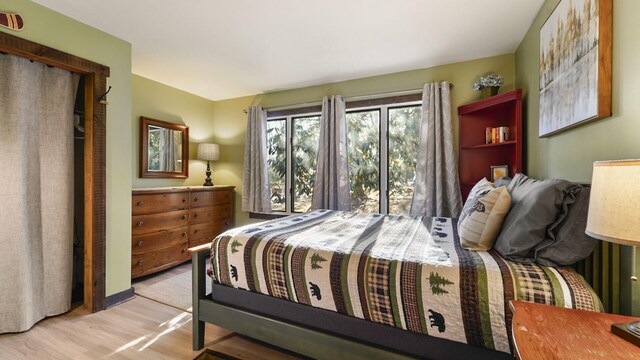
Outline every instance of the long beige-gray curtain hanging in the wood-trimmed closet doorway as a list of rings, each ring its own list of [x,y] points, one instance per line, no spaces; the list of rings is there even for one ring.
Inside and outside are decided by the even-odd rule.
[[[0,333],[71,306],[77,83],[69,71],[0,55]]]

